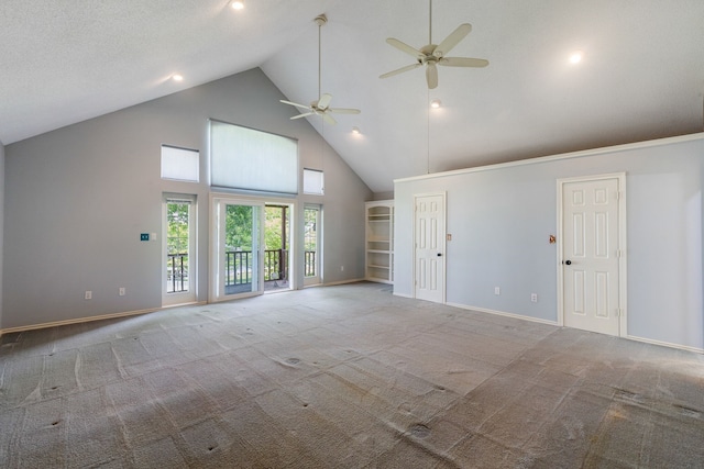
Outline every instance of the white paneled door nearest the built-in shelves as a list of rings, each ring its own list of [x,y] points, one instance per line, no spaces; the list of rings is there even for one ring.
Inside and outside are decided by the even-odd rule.
[[[444,194],[416,197],[415,297],[444,303]]]

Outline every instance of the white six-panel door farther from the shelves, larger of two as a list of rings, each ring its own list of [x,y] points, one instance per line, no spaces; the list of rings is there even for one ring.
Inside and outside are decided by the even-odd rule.
[[[619,177],[562,183],[562,317],[568,327],[622,335]],[[625,237],[623,237],[625,239]]]

